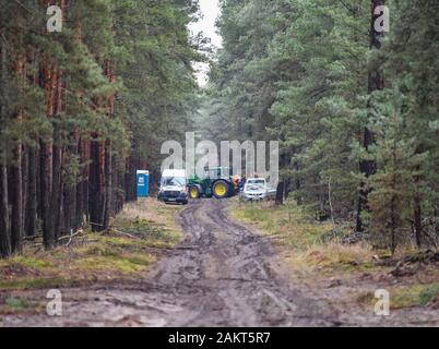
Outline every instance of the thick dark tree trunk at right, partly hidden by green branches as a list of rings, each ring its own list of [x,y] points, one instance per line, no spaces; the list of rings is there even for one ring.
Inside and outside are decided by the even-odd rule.
[[[375,14],[375,9],[377,7],[384,5],[384,0],[371,0],[371,23],[370,23],[370,48],[379,50],[381,48],[381,39],[383,33],[379,33],[375,29],[375,22],[378,20],[380,14]],[[373,103],[372,94],[376,91],[384,88],[384,77],[382,70],[380,68],[372,68],[369,70],[368,76],[368,94],[369,100],[367,103],[368,120],[373,116]],[[375,135],[370,129],[366,125],[363,134],[363,146],[366,151],[375,143]],[[359,164],[360,172],[369,178],[377,171],[377,164],[375,160],[361,160]],[[358,195],[358,206],[357,206],[357,225],[356,230],[359,232],[364,231],[364,225],[361,219],[361,212],[367,209],[367,197],[370,193],[370,189],[366,188],[366,183],[360,183],[360,190]]]

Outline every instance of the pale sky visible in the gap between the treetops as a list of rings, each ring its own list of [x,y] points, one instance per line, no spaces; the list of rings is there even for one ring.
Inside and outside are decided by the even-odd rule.
[[[212,45],[216,48],[222,46],[222,37],[216,33],[215,21],[220,15],[218,0],[200,0],[202,19],[190,25],[191,32],[197,35],[202,32],[205,37],[211,38]],[[207,81],[209,64],[195,64],[199,71],[197,74],[199,84],[205,85]]]

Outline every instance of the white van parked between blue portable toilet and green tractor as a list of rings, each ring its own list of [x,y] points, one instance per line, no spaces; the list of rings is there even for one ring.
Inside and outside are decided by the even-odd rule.
[[[164,170],[157,198],[165,203],[188,204],[188,179],[185,170]]]

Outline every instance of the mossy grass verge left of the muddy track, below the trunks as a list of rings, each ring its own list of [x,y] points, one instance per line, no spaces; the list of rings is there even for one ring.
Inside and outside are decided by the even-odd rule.
[[[180,209],[142,200],[128,204],[106,232],[84,232],[69,246],[48,252],[26,245],[23,255],[0,261],[0,291],[138,278],[157,260],[161,249],[173,249],[183,238],[175,224]]]

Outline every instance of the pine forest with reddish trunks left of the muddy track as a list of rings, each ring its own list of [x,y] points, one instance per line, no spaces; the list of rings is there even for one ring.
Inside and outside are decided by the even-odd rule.
[[[49,5],[62,31],[47,29]],[[135,200],[135,170],[189,128],[204,41],[190,0],[0,1],[0,256]]]

